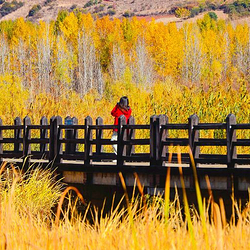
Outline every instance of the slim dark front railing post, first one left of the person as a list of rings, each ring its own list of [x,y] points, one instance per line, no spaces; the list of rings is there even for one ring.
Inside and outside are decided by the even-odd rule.
[[[92,155],[92,144],[90,144],[90,141],[93,139],[93,131],[89,128],[89,126],[92,125],[92,118],[90,116],[87,116],[85,118],[85,144],[84,144],[84,165],[89,165],[92,163],[92,160],[90,160],[90,156]]]

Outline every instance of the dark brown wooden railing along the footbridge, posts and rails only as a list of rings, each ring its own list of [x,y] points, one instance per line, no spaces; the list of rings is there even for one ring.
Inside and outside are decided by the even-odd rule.
[[[104,138],[105,130],[118,130],[118,140]],[[203,138],[203,130],[223,131],[225,138]],[[136,138],[138,130],[146,130],[148,138]],[[171,130],[184,130],[187,137],[170,138]],[[98,161],[116,160],[117,166],[127,166],[128,162],[144,162],[149,166],[164,166],[168,162],[170,146],[190,147],[195,163],[224,164],[228,168],[237,165],[250,165],[250,154],[237,154],[239,147],[250,147],[250,138],[237,139],[237,131],[250,131],[250,124],[236,124],[233,114],[227,116],[225,123],[199,123],[197,115],[188,118],[187,123],[173,124],[168,122],[166,115],[154,115],[149,124],[135,124],[130,117],[128,124],[124,116],[119,118],[118,125],[104,125],[102,118],[93,124],[91,117],[85,118],[84,124],[78,124],[77,118],[66,117],[64,124],[60,116],[53,116],[50,123],[42,117],[39,125],[32,125],[29,117],[19,117],[14,125],[3,125],[0,119],[0,158],[47,159],[55,163],[64,161],[82,161],[91,166]],[[12,131],[12,137],[6,133]],[[14,131],[14,133],[13,133]],[[33,137],[36,131],[36,137]],[[35,148],[32,145],[37,145]],[[117,155],[104,150],[105,145],[117,144]],[[11,145],[6,147],[6,145]],[[136,146],[145,145],[149,152],[137,152]],[[79,150],[81,147],[81,150]],[[201,147],[226,147],[225,154],[204,154]],[[93,150],[94,149],[94,150]],[[249,151],[250,152],[250,151]],[[177,162],[177,153],[173,153],[172,162]],[[188,153],[182,154],[182,161],[190,163]],[[114,165],[114,164],[113,164]]]

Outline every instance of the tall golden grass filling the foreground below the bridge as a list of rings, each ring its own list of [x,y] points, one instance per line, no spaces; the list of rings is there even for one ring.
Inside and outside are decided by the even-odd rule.
[[[179,161],[181,172],[181,162]],[[210,199],[199,210],[190,208],[184,196],[181,207],[178,192],[170,201],[170,170],[166,178],[165,199],[148,197],[138,176],[139,197],[123,200],[109,214],[86,208],[76,213],[75,202],[63,209],[69,189],[64,190],[47,170],[23,174],[14,166],[0,170],[0,248],[1,249],[249,249],[249,206],[241,209],[232,200],[236,220],[227,221],[223,201]],[[207,178],[208,186],[209,179]],[[183,190],[185,188],[183,187]],[[32,194],[33,198],[30,198]],[[197,198],[199,192],[197,192]],[[60,199],[61,197],[61,199]],[[51,202],[48,202],[50,200]],[[71,205],[70,205],[71,204]],[[57,207],[57,214],[53,213]],[[183,211],[184,210],[184,211]],[[91,222],[90,219],[91,218]]]

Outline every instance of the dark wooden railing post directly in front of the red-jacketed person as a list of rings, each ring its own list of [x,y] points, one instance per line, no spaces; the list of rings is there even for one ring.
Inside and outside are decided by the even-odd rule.
[[[121,115],[118,118],[118,139],[117,139],[117,165],[123,166],[124,160],[123,156],[126,156],[126,147],[124,146],[124,141],[127,139],[127,133],[123,128],[126,125],[126,117]]]

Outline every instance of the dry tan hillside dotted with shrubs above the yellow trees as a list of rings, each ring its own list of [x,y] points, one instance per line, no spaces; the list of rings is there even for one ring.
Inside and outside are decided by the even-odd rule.
[[[178,9],[182,9],[178,12],[182,21],[206,11],[224,12],[229,18],[235,19],[249,16],[250,0],[0,0],[0,20],[24,17],[34,22],[50,21],[61,10],[90,12],[98,17],[109,15],[159,19],[169,15],[174,17]]]

